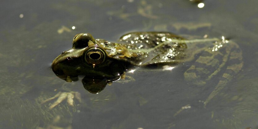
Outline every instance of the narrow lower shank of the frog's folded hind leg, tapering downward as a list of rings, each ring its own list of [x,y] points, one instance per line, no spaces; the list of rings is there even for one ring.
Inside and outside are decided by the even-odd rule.
[[[232,52],[230,53],[229,60],[227,61],[227,67],[225,72],[223,73],[221,79],[219,80],[218,84],[216,85],[215,89],[209,94],[209,97],[204,102],[204,107],[207,105],[207,103],[216,96],[221,89],[223,89],[228,82],[234,78],[236,74],[239,73],[239,71],[243,67],[243,61],[242,61],[242,51],[239,48],[237,44],[232,44]]]

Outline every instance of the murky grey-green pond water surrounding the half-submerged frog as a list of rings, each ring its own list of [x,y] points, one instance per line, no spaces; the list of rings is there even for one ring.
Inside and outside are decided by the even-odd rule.
[[[258,1],[188,0],[0,2],[0,128],[245,129],[258,128]],[[73,29],[72,27],[75,27]],[[136,70],[135,82],[113,82],[90,94],[81,81],[52,72],[53,59],[72,47],[74,35],[116,41],[131,31],[170,31],[226,38],[243,51],[242,71],[206,106],[218,80],[205,87],[184,81],[184,67]],[[66,88],[82,103],[49,110],[43,100]]]

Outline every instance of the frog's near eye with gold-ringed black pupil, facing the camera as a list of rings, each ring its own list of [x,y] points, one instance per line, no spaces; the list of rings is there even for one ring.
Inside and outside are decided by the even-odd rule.
[[[85,54],[85,61],[89,64],[97,65],[105,61],[106,54],[100,48],[90,48]]]

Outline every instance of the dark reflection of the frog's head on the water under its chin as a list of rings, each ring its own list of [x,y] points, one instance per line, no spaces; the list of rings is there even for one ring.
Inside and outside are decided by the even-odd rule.
[[[79,80],[78,76],[74,77],[74,76],[60,75],[57,73],[55,74],[57,75],[57,77],[67,82],[73,82],[73,81]],[[119,79],[120,79],[120,76],[112,77],[112,78],[107,78],[104,76],[85,76],[82,79],[82,84],[87,91],[89,91],[92,94],[97,94],[101,92],[106,87],[107,84],[110,84],[111,82],[117,81]]]

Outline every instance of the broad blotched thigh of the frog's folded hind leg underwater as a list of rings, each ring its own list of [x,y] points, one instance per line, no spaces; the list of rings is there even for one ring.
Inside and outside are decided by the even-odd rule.
[[[217,75],[226,64],[230,55],[227,47],[214,52],[205,49],[192,66],[184,73],[184,79],[195,85],[205,85],[212,77]]]

